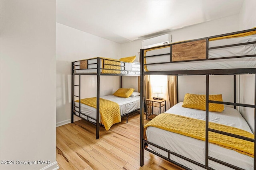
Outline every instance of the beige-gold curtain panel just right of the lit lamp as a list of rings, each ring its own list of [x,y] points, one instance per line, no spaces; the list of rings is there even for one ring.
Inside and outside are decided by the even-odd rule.
[[[168,94],[170,107],[177,104],[177,76],[168,76]]]

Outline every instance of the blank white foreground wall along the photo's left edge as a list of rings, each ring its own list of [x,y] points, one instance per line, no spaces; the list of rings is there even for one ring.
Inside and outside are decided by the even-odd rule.
[[[2,1],[0,121],[2,170],[57,168],[56,1]],[[20,165],[16,161],[49,160]]]

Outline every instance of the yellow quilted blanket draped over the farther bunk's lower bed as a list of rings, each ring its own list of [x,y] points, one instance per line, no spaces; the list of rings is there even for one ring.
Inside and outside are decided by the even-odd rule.
[[[75,102],[79,102],[76,100]],[[81,99],[82,104],[97,108],[96,98]],[[120,107],[116,102],[100,98],[101,120],[108,131],[112,125],[121,121]]]

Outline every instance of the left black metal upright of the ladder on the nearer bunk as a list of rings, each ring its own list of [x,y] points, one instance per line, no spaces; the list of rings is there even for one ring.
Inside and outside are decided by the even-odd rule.
[[[205,117],[205,166],[208,167],[208,137],[209,137],[209,74],[206,74],[206,117]]]

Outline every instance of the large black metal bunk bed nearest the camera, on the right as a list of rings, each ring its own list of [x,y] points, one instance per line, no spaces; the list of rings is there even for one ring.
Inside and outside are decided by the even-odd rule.
[[[190,41],[183,41],[140,50],[141,76],[140,89],[143,89],[144,75],[205,75],[206,92],[204,96],[204,111],[182,107],[178,103],[165,113],[152,119],[144,129],[144,91],[141,90],[140,107],[140,166],[144,165],[144,150],[156,154],[184,169],[254,169],[256,158],[254,153],[255,132],[253,133],[236,106],[254,109],[254,129],[256,129],[256,28]],[[234,102],[209,99],[209,75],[234,75]],[[236,102],[236,75],[254,74],[254,104]],[[210,104],[230,105],[222,113],[210,110]],[[172,114],[170,114],[172,113]],[[189,113],[189,114],[187,114]],[[218,121],[216,121],[216,114]],[[193,116],[194,115],[194,116]],[[228,116],[228,118],[225,116]],[[167,117],[172,117],[168,118]],[[160,124],[175,125],[174,122],[190,122],[190,119],[200,119],[204,135],[202,139],[195,139],[192,133],[176,133],[163,130]],[[189,124],[190,129],[197,124]],[[170,121],[166,121],[170,120]],[[228,120],[228,121],[227,121]],[[166,121],[163,123],[163,121]],[[203,121],[203,122],[202,122]],[[224,124],[246,131],[248,136],[230,133],[213,128],[213,123]],[[161,123],[160,123],[161,122]],[[176,123],[177,124],[177,123]],[[179,124],[179,123],[178,123]],[[192,126],[196,124],[196,126]],[[198,125],[199,126],[199,125]],[[220,125],[222,126],[222,125]],[[179,127],[180,128],[180,127]],[[175,129],[174,129],[175,130]],[[174,133],[175,132],[175,133]],[[181,135],[182,134],[182,135]],[[212,144],[211,135],[222,135],[232,139],[250,143],[250,154],[241,154]],[[231,147],[233,147],[231,145]],[[246,148],[247,149],[247,148]],[[250,156],[248,156],[250,155]]]

